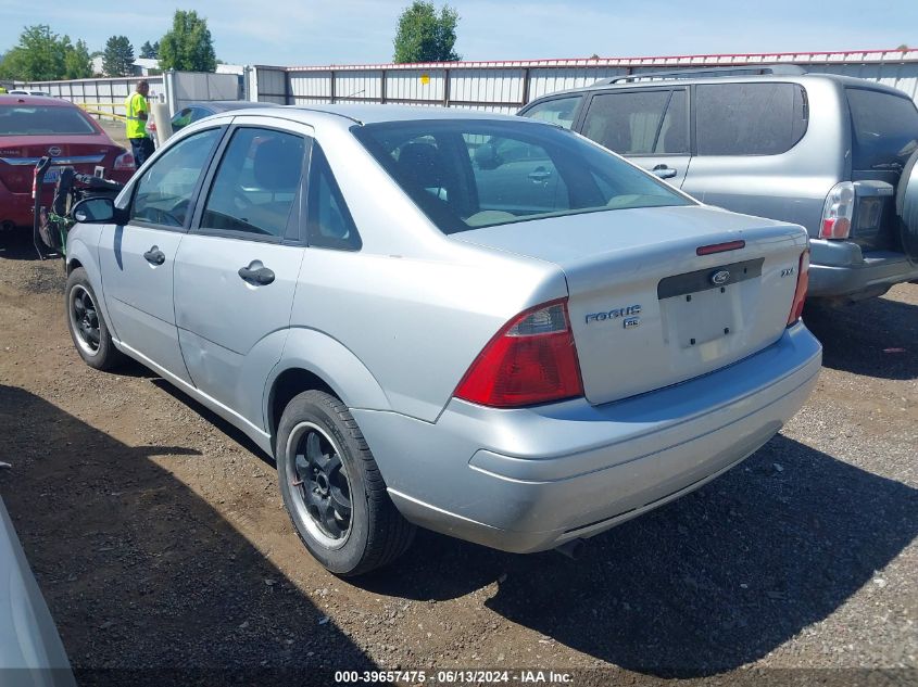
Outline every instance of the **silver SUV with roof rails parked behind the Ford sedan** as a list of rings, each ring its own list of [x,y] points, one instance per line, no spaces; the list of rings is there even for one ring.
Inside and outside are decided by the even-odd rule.
[[[918,111],[894,88],[792,65],[687,69],[553,93],[519,114],[704,203],[804,226],[809,297],[859,301],[918,279],[918,221],[903,219],[918,202],[906,198],[918,193],[906,193]]]

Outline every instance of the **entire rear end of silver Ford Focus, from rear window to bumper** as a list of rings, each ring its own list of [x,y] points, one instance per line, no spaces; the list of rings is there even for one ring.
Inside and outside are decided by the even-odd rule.
[[[539,124],[356,136],[451,241],[563,278],[471,354],[435,421],[354,410],[413,522],[556,547],[697,488],[806,400],[802,228],[701,206]]]

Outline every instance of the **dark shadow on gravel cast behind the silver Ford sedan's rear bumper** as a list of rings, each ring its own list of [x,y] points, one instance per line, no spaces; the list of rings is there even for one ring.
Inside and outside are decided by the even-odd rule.
[[[621,667],[696,677],[825,619],[916,535],[918,489],[778,435],[699,492],[591,539],[578,561],[425,534],[365,584],[442,599],[496,581],[487,606],[513,622]]]

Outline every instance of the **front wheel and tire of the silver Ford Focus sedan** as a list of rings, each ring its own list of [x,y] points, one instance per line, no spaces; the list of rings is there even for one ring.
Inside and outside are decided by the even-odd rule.
[[[74,269],[64,289],[67,330],[79,357],[97,370],[112,370],[124,362],[124,354],[115,348],[109,325],[99,309],[99,300],[89,283],[86,270]]]

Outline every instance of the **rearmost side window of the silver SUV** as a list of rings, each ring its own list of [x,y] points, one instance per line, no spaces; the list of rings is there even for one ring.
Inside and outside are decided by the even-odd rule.
[[[806,132],[805,92],[796,84],[695,87],[699,155],[778,155]]]

